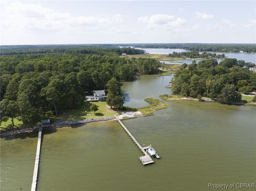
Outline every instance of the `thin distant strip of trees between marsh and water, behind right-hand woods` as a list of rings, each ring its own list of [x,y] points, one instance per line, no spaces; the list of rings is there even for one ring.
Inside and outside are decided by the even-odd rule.
[[[210,59],[210,58],[215,58],[215,59],[223,59],[225,58],[225,54],[215,54],[215,53],[202,53],[199,54],[198,51],[191,51],[191,52],[173,52],[168,54],[169,57],[182,57],[183,59],[189,58],[189,59]]]

